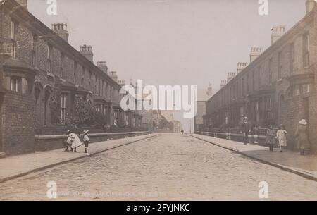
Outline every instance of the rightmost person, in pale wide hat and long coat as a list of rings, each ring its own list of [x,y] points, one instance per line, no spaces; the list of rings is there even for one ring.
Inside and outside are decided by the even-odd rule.
[[[304,155],[305,149],[310,148],[309,144],[309,135],[308,135],[308,123],[305,119],[302,119],[299,121],[299,125],[297,127],[297,130],[294,134],[295,137],[297,137],[299,149],[301,155]]]

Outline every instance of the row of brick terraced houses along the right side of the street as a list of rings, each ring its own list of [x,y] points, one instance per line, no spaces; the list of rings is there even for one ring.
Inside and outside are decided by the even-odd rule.
[[[284,124],[290,147],[297,123],[309,121],[311,148],[317,149],[317,7],[306,1],[306,16],[285,32],[275,26],[265,51],[252,47],[250,63],[238,63],[235,77],[206,102],[205,129],[238,127],[247,116],[253,125]],[[229,75],[228,75],[229,76]]]

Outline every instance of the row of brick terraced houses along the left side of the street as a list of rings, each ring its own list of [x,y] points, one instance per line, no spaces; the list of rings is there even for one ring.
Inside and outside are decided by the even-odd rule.
[[[27,0],[0,5],[2,154],[35,152],[35,135],[65,132],[78,99],[94,106],[105,126],[122,121],[137,130],[142,116],[120,108],[116,72],[108,73],[106,61],[94,64],[91,46],[68,44],[66,23],[46,27],[27,11]]]

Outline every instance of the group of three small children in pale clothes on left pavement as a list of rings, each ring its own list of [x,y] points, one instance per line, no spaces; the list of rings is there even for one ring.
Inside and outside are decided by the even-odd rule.
[[[80,147],[82,144],[85,145],[85,153],[88,154],[87,148],[89,145],[89,137],[88,137],[89,130],[84,130],[82,132],[83,135],[83,142],[80,141],[80,137],[73,133],[72,131],[68,130],[66,132],[67,140],[65,142],[65,152],[77,152],[77,148]]]

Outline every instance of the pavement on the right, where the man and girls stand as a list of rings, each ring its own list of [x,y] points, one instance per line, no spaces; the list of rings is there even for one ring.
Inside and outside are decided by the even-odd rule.
[[[218,147],[229,149],[232,152],[243,154],[251,159],[256,159],[265,164],[281,168],[285,171],[290,171],[304,178],[317,181],[317,156],[305,155],[300,156],[299,152],[284,150],[276,148],[273,153],[268,152],[268,147],[259,145],[236,142],[232,140],[225,140],[216,137],[209,137],[205,135],[190,135],[199,140],[204,140]]]

